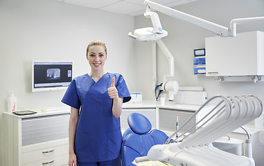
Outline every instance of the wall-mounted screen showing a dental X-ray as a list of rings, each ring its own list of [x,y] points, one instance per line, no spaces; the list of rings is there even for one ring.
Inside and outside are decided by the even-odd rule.
[[[67,89],[72,80],[73,62],[33,61],[32,91]]]

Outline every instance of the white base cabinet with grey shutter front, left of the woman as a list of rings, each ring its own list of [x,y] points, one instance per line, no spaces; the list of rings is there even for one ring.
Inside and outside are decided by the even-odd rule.
[[[15,116],[4,113],[4,165],[68,165],[69,112]]]

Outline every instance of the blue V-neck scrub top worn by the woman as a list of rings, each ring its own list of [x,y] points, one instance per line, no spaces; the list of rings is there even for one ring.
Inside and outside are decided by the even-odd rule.
[[[113,100],[107,91],[112,77],[119,98],[128,102],[130,92],[123,76],[116,73],[106,73],[98,82],[88,74],[76,77],[62,98],[64,104],[80,109],[74,147],[78,162],[113,160],[120,154],[120,118],[112,113]]]

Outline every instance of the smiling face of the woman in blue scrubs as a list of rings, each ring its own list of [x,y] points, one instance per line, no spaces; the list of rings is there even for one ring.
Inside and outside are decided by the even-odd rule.
[[[87,51],[87,60],[91,66],[91,71],[103,72],[103,66],[107,59],[107,53],[105,53],[105,47],[100,45],[90,46]]]

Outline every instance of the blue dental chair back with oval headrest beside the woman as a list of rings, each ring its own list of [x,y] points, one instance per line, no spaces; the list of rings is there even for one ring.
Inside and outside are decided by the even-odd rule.
[[[134,158],[147,156],[150,147],[163,144],[168,136],[162,131],[152,129],[148,118],[140,113],[131,113],[127,122],[130,128],[123,133],[121,158],[123,166],[132,166]]]

